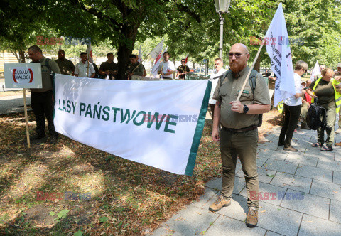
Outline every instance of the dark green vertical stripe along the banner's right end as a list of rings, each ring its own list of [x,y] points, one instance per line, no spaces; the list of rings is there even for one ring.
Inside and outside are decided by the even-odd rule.
[[[204,130],[206,112],[207,112],[207,107],[208,107],[208,100],[210,100],[211,88],[212,88],[212,82],[208,81],[204,99],[202,100],[202,104],[200,108],[200,114],[197,119],[197,127],[195,127],[192,146],[190,148],[190,156],[188,156],[188,162],[187,162],[186,171],[185,171],[186,176],[192,176],[193,174],[193,169],[195,166],[195,159],[197,158],[197,149],[199,148],[202,131]]]

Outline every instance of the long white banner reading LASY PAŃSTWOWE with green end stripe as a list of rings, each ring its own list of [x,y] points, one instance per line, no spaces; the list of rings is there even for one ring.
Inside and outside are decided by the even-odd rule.
[[[191,176],[211,84],[55,74],[55,130],[124,159]]]

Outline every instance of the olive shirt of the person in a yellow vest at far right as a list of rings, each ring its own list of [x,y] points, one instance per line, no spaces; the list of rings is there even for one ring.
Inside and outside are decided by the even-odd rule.
[[[309,88],[313,90],[315,86],[315,82],[317,80],[314,80]],[[332,86],[332,81],[325,81],[323,79],[320,79],[318,82],[318,85],[315,87],[315,95],[318,96],[318,104],[321,106],[324,104],[330,104],[332,102],[335,103],[335,90]]]

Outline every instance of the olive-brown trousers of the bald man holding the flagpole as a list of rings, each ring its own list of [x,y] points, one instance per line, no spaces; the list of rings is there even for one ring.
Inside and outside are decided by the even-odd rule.
[[[258,208],[259,200],[250,198],[250,192],[259,193],[259,181],[256,165],[258,130],[232,133],[224,127],[220,133],[220,151],[222,155],[222,192],[224,198],[231,198],[234,188],[234,174],[237,157],[242,168],[247,186],[247,205]]]

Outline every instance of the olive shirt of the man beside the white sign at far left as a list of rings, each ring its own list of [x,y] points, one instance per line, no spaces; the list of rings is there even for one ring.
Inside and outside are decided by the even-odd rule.
[[[59,67],[57,63],[53,60],[48,60],[48,66],[46,65],[45,57],[39,60],[41,64],[41,81],[43,84],[43,88],[41,89],[31,89],[32,92],[46,92],[53,89],[53,81],[51,73],[60,74]]]

